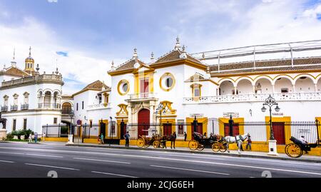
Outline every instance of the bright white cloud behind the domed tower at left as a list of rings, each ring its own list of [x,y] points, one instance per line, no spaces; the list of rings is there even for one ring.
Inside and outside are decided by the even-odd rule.
[[[46,71],[46,74],[51,74],[55,71],[58,59],[58,69],[64,79],[81,82],[82,86],[96,80],[105,81],[106,84],[110,82],[107,71],[111,68],[111,61],[98,59],[91,56],[90,52],[83,52],[73,46],[63,46],[57,38],[56,31],[32,17],[25,17],[19,26],[9,26],[0,22],[0,31],[1,65],[10,65],[15,48],[17,66],[23,69],[24,59],[28,56],[31,46],[31,55],[35,63],[39,64],[41,73]],[[56,50],[68,50],[68,53]],[[79,87],[73,84],[63,86],[63,94],[73,94],[74,91],[79,91]]]

